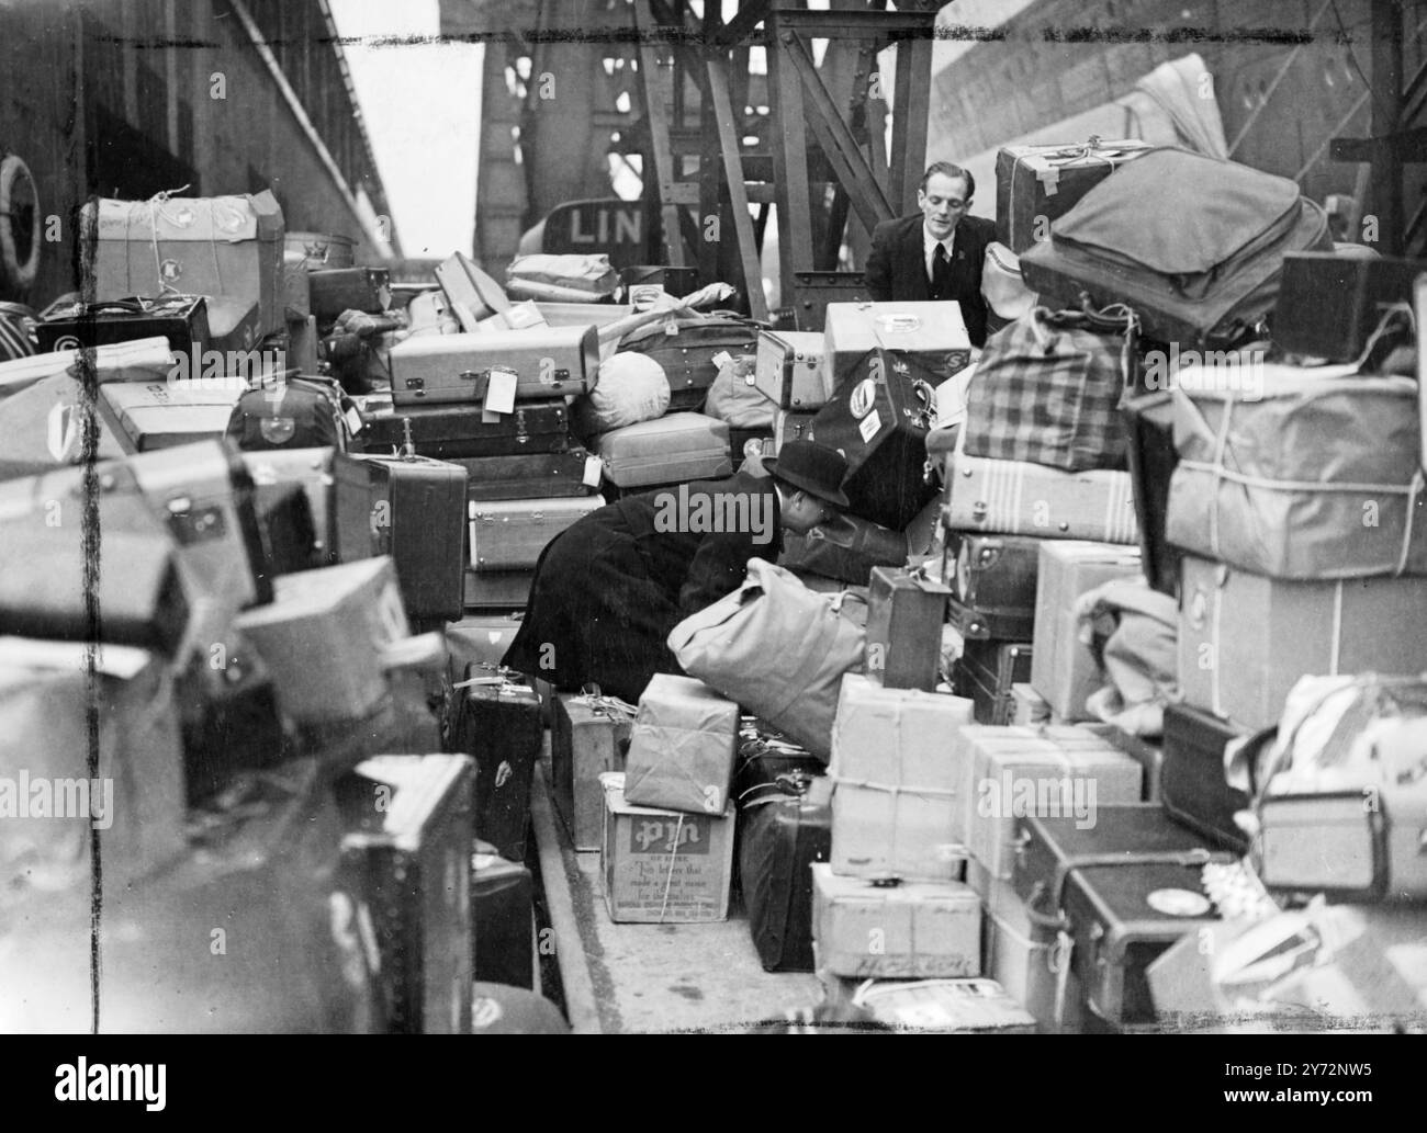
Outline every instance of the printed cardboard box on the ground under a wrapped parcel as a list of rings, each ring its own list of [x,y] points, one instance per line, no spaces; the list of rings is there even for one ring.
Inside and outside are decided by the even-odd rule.
[[[601,875],[616,924],[728,919],[733,872],[733,805],[722,815],[634,807],[624,772],[599,777],[605,791]]]

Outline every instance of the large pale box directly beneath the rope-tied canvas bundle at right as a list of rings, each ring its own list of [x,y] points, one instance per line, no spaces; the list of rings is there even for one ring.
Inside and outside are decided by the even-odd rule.
[[[1300,677],[1427,670],[1427,577],[1283,581],[1186,554],[1179,686],[1259,731]]]

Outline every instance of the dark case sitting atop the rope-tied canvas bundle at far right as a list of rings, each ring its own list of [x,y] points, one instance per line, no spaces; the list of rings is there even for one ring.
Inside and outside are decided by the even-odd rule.
[[[1289,353],[1356,362],[1393,304],[1413,301],[1424,259],[1290,252],[1283,258],[1273,341]]]

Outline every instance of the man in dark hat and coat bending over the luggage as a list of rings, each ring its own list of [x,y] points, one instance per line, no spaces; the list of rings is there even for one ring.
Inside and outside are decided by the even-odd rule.
[[[749,559],[778,562],[782,530],[803,534],[839,516],[846,475],[836,450],[791,440],[725,480],[625,496],[589,513],[541,552],[502,664],[559,690],[592,683],[638,701],[655,673],[684,671],[665,644],[671,630],[736,590]]]

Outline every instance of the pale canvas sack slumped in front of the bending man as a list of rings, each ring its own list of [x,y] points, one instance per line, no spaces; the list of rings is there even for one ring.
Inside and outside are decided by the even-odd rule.
[[[848,597],[749,559],[743,584],[684,619],[668,644],[689,676],[826,762],[842,677],[863,670],[866,631],[843,614]]]

